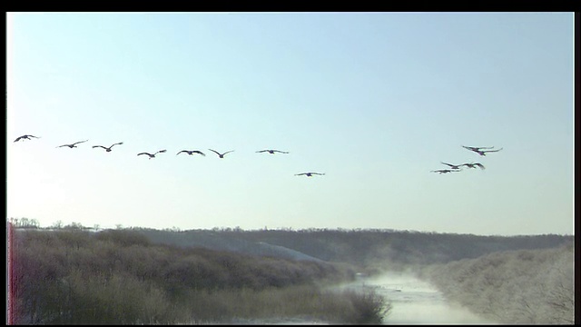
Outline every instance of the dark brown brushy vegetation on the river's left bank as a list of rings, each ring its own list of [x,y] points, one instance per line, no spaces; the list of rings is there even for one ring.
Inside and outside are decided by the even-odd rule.
[[[10,323],[376,323],[385,313],[374,294],[325,288],[352,280],[340,264],[180,248],[125,230],[17,231],[10,251]]]

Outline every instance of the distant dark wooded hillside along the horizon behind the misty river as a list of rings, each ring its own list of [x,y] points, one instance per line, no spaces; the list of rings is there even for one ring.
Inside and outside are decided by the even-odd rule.
[[[213,229],[182,232],[136,229],[154,243],[202,246],[257,255],[298,258],[275,252],[265,244],[291,249],[325,262],[350,263],[368,273],[405,270],[412,265],[448,263],[497,251],[546,249],[573,240],[573,236],[545,234],[482,236],[458,233],[419,233],[393,230]],[[307,258],[305,258],[307,259]]]

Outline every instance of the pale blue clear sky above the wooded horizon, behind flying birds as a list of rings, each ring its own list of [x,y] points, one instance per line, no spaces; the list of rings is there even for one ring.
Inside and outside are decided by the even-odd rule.
[[[572,13],[8,14],[7,216],[573,234],[573,67]]]

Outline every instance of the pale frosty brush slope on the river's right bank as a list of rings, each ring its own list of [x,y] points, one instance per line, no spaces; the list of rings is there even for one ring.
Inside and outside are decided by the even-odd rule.
[[[554,249],[490,253],[425,268],[448,299],[501,323],[575,322],[573,242]]]

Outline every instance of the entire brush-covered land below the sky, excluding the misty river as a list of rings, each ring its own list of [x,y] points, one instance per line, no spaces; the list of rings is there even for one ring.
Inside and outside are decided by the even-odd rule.
[[[490,320],[573,320],[573,236],[15,225],[14,323],[378,323],[389,299],[330,286],[408,269]]]

